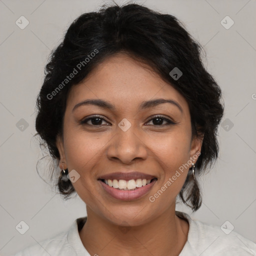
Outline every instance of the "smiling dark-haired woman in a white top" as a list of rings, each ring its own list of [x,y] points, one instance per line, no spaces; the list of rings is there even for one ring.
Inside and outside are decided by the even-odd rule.
[[[52,52],[36,130],[87,217],[21,255],[256,255],[256,244],[175,211],[201,205],[218,155],[221,90],[172,15],[139,4],[84,13]],[[56,172],[56,170],[54,170]]]

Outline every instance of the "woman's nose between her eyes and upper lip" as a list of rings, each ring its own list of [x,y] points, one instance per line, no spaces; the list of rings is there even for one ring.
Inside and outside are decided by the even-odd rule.
[[[136,158],[144,160],[147,153],[146,141],[142,141],[141,136],[139,137],[135,133],[132,125],[126,131],[117,127],[117,131],[106,149],[109,160],[118,160],[125,164],[132,163]]]

